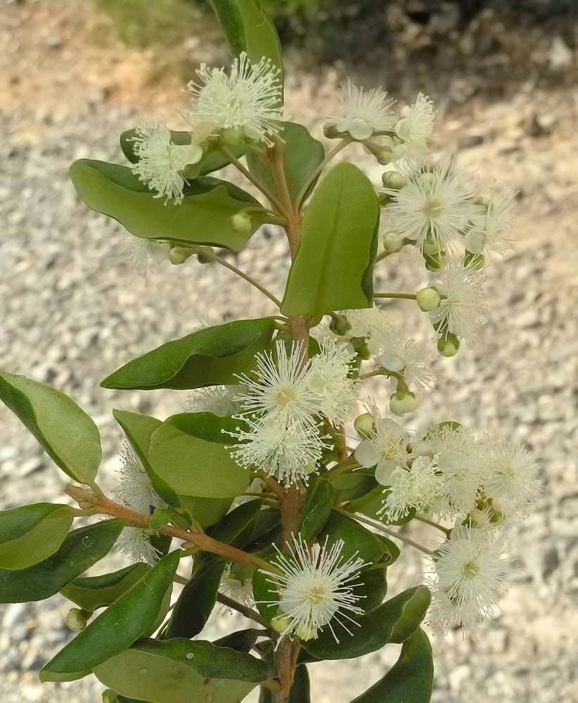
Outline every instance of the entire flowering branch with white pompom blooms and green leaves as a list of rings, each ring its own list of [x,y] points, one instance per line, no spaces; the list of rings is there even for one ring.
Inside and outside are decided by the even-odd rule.
[[[450,157],[430,161],[435,110],[423,95],[396,111],[380,89],[347,82],[326,153],[283,112],[281,53],[258,4],[214,9],[233,64],[200,67],[186,129],[143,123],[121,137],[129,166],[80,160],[70,173],[89,207],[131,233],[143,272],[162,259],[222,264],[277,312],[195,330],[105,378],[193,391],[165,420],[115,411],[127,437],[115,500],[96,482],[92,420],[55,389],[0,372],[1,399],[79,505],[0,513],[1,600],[70,599],[79,634],[41,680],[94,673],[109,702],[233,703],[257,685],[262,701],[307,701],[307,664],[389,643],[402,645],[399,661],[356,702],[425,702],[433,667],[420,624],[472,629],[492,613],[507,588],[504,527],[537,501],[537,471],[502,439],[454,422],[416,437],[394,419],[416,411],[431,376],[425,349],[375,301],[417,303],[444,356],[479,342],[485,259],[508,247],[513,196],[482,195]],[[384,166],[383,188],[349,162],[328,170],[352,143]],[[226,165],[259,198],[210,175]],[[265,223],[287,238],[283,300],[216,251],[250,246]],[[435,280],[374,292],[374,267],[404,247]],[[378,376],[389,405],[363,406],[364,380]],[[110,519],[69,531],[97,515]],[[435,549],[395,529],[412,520],[437,531]],[[385,600],[393,540],[421,548],[432,569],[428,586]],[[134,563],[84,576],[115,543]],[[251,626],[201,639],[217,602]]]

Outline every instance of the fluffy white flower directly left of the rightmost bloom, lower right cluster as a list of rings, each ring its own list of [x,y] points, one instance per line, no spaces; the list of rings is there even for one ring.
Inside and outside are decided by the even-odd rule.
[[[428,434],[430,451],[437,455],[443,486],[434,512],[467,515],[475,508],[484,480],[484,450],[465,427],[446,425]]]

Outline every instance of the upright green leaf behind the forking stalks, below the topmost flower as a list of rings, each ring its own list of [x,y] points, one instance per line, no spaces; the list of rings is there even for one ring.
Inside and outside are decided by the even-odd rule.
[[[278,144],[276,148],[281,150],[283,172],[292,202],[297,200],[304,184],[311,179],[309,187],[300,195],[300,202],[295,202],[295,205],[299,207],[319,179],[319,174],[314,179],[312,176],[325,158],[325,150],[321,142],[314,139],[302,124],[296,122],[283,122],[281,138],[283,138],[283,143]],[[251,152],[247,154],[246,158],[251,173],[271,193],[281,195],[278,192],[278,186],[271,173],[269,163],[264,162]]]

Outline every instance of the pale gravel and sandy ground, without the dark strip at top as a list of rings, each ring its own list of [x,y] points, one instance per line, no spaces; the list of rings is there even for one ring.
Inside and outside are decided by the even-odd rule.
[[[71,12],[50,0],[0,5],[0,366],[51,383],[96,420],[102,483],[110,487],[122,442],[111,408],[162,417],[179,411],[186,394],[120,394],[98,382],[201,318],[271,309],[224,269],[195,262],[145,284],[127,269],[114,224],[77,200],[67,175],[73,159],[120,160],[117,135],[136,115],[170,115],[183,100],[174,84],[149,85],[146,56],[83,44],[76,30],[91,19],[87,8],[79,3]],[[288,89],[290,114],[306,123],[328,114],[335,82],[331,71],[300,77]],[[477,433],[525,444],[539,460],[544,495],[512,536],[519,569],[494,621],[475,637],[434,638],[435,703],[578,702],[577,101],[575,88],[528,83],[499,103],[447,110],[439,103],[437,147],[458,151],[484,182],[520,191],[519,242],[489,270],[484,349],[434,360],[435,392],[412,422],[420,431],[451,416]],[[279,295],[284,252],[276,233],[261,233],[237,261]],[[422,282],[415,257],[404,252],[396,264],[394,271],[382,264],[387,288]],[[417,325],[411,334],[428,339],[417,314],[391,310],[403,310]],[[0,508],[61,500],[63,475],[4,406],[0,437]],[[405,559],[404,575],[392,573],[392,593],[420,579],[418,557],[406,551]],[[102,687],[89,679],[38,682],[70,636],[67,610],[60,597],[0,606],[3,703],[101,699]],[[226,617],[214,623],[226,626]],[[396,658],[392,647],[361,664],[312,667],[315,703],[349,701]]]

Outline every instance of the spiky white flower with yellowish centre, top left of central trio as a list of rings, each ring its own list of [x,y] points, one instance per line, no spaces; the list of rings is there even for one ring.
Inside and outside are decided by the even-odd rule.
[[[307,366],[302,363],[302,347],[297,345],[287,355],[283,342],[276,343],[277,363],[273,354],[263,352],[257,359],[257,380],[247,375],[238,376],[244,392],[236,396],[241,404],[241,415],[281,415],[287,423],[313,423],[319,413],[316,392],[308,385]]]

